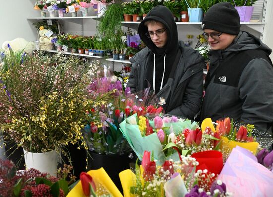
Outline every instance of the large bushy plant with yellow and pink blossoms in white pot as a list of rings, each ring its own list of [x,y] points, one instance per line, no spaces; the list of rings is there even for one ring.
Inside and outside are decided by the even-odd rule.
[[[12,50],[10,53],[13,61]],[[0,86],[5,91],[0,91],[0,102],[4,103],[0,131],[4,131],[5,140],[13,140],[24,149],[27,168],[43,166],[41,171],[56,174],[62,147],[81,145],[87,104],[83,76],[87,69],[87,63],[74,56],[48,58],[35,53],[20,63],[13,61],[8,72],[1,70]],[[45,160],[48,163],[39,163],[46,156],[50,157]]]

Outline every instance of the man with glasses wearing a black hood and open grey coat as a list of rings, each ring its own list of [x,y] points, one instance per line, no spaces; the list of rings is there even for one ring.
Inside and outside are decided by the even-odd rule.
[[[178,41],[173,14],[164,6],[147,14],[138,33],[147,47],[130,59],[127,87],[134,93],[150,85],[158,98],[165,99],[165,113],[193,119],[202,99],[202,56]]]

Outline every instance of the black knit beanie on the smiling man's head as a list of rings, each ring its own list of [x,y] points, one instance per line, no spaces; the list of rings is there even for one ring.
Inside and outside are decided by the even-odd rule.
[[[202,21],[202,29],[212,29],[232,35],[237,35],[240,28],[239,14],[229,2],[217,3],[210,7]]]

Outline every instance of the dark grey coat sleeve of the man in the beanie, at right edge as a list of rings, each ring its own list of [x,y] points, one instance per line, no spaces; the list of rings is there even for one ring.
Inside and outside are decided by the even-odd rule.
[[[239,94],[244,101],[241,121],[266,131],[273,122],[273,67],[264,59],[250,61],[240,77]]]

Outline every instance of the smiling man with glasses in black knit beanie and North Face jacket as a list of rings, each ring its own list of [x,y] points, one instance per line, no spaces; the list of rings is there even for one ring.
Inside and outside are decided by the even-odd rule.
[[[273,123],[271,49],[240,30],[240,17],[229,2],[213,5],[202,21],[210,46],[200,119],[224,117],[270,132]]]

